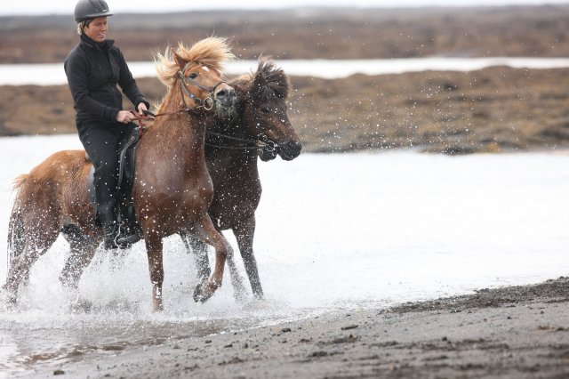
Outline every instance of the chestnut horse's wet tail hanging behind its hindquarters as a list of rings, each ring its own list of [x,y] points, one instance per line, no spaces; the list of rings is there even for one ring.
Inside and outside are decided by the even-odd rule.
[[[10,270],[14,259],[20,256],[26,246],[26,234],[24,231],[24,218],[21,214],[20,198],[21,189],[26,185],[26,181],[28,181],[28,174],[24,173],[18,176],[13,184],[15,198],[12,205],[12,214],[10,214],[10,222],[8,224],[8,270]]]

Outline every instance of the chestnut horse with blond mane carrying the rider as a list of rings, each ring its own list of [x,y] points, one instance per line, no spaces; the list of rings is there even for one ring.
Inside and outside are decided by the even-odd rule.
[[[233,58],[223,38],[210,37],[190,48],[157,54],[158,77],[168,92],[154,125],[139,142],[132,197],[148,254],[154,310],[162,310],[163,242],[175,233],[190,233],[215,248],[212,277],[196,287],[204,301],[221,285],[228,242],[207,214],[212,180],[204,157],[205,131],[214,113],[233,106],[235,91],[220,79],[224,60]],[[195,106],[194,106],[195,105]],[[84,265],[82,245],[96,246],[102,232],[87,193],[92,167],[83,150],[60,151],[16,182],[18,190],[9,226],[10,264],[4,288],[17,299],[20,282],[31,265],[52,246],[61,230],[76,238],[73,258],[62,274],[76,286],[74,272]],[[94,253],[94,249],[92,250]],[[68,277],[66,273],[69,272]]]

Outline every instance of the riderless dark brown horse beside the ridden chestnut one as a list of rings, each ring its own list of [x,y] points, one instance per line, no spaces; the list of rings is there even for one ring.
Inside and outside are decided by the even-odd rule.
[[[233,231],[252,292],[262,298],[252,250],[255,210],[261,194],[258,157],[267,161],[278,154],[292,160],[299,156],[302,145],[286,115],[290,82],[273,60],[261,58],[257,72],[238,77],[229,85],[237,93],[235,114],[229,119],[216,117],[205,140],[205,159],[214,189],[209,214],[217,230]],[[207,246],[188,233],[181,237],[194,251],[198,275],[209,277]]]

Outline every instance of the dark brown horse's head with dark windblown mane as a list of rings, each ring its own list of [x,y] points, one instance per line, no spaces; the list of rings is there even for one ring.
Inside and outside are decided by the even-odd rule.
[[[270,57],[261,57],[257,72],[231,82],[243,107],[242,121],[247,133],[265,142],[260,159],[268,161],[278,154],[292,160],[301,154],[302,144],[286,115],[290,82],[283,69]]]

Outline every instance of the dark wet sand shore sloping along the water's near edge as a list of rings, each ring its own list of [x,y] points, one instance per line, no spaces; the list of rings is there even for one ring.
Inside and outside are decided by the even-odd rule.
[[[569,278],[84,357],[38,377],[569,376]]]

